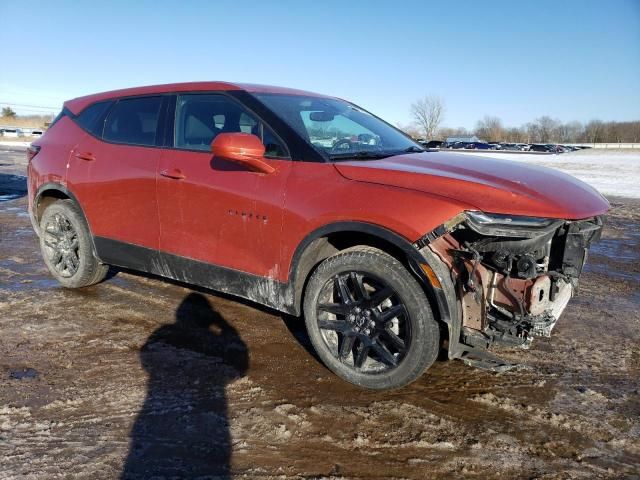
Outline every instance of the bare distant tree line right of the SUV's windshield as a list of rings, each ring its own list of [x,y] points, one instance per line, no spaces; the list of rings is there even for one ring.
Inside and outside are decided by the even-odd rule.
[[[411,104],[411,125],[398,125],[414,138],[444,140],[447,137],[476,135],[487,142],[508,143],[639,143],[640,120],[632,122],[603,122],[591,120],[561,122],[543,116],[521,127],[507,127],[498,117],[486,115],[468,130],[464,127],[441,127],[445,104],[442,99],[427,95]]]

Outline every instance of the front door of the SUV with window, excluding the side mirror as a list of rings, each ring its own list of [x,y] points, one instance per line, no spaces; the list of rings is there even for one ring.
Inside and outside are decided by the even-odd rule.
[[[158,168],[160,250],[275,278],[280,262],[284,186],[291,161],[284,143],[255,114],[222,93],[176,97],[175,132]],[[214,158],[222,132],[258,136],[272,174]]]

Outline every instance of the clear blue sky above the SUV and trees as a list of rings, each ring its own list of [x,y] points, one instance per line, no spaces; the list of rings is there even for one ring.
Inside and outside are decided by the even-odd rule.
[[[392,123],[425,94],[450,127],[640,119],[640,0],[28,4],[0,3],[0,102],[230,80],[347,98]]]

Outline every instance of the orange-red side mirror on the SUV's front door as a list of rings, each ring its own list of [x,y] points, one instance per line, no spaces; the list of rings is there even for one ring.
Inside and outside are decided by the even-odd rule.
[[[211,152],[215,157],[239,163],[254,172],[276,171],[265,162],[264,145],[260,139],[250,133],[220,133],[211,142]]]

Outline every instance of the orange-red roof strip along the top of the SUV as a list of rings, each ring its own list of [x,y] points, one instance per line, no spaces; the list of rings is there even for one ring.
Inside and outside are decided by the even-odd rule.
[[[319,93],[307,92],[295,88],[276,87],[273,85],[259,85],[254,83],[233,83],[233,82],[186,82],[168,83],[164,85],[149,85],[144,87],[124,88],[111,90],[108,92],[94,93],[83,97],[77,97],[64,102],[64,106],[74,114],[78,114],[88,105],[102,100],[110,100],[120,97],[130,97],[135,95],[152,95],[154,93],[174,93],[174,92],[213,92],[213,91],[245,91],[250,93],[277,93],[282,95],[304,95],[321,98],[333,98]]]

